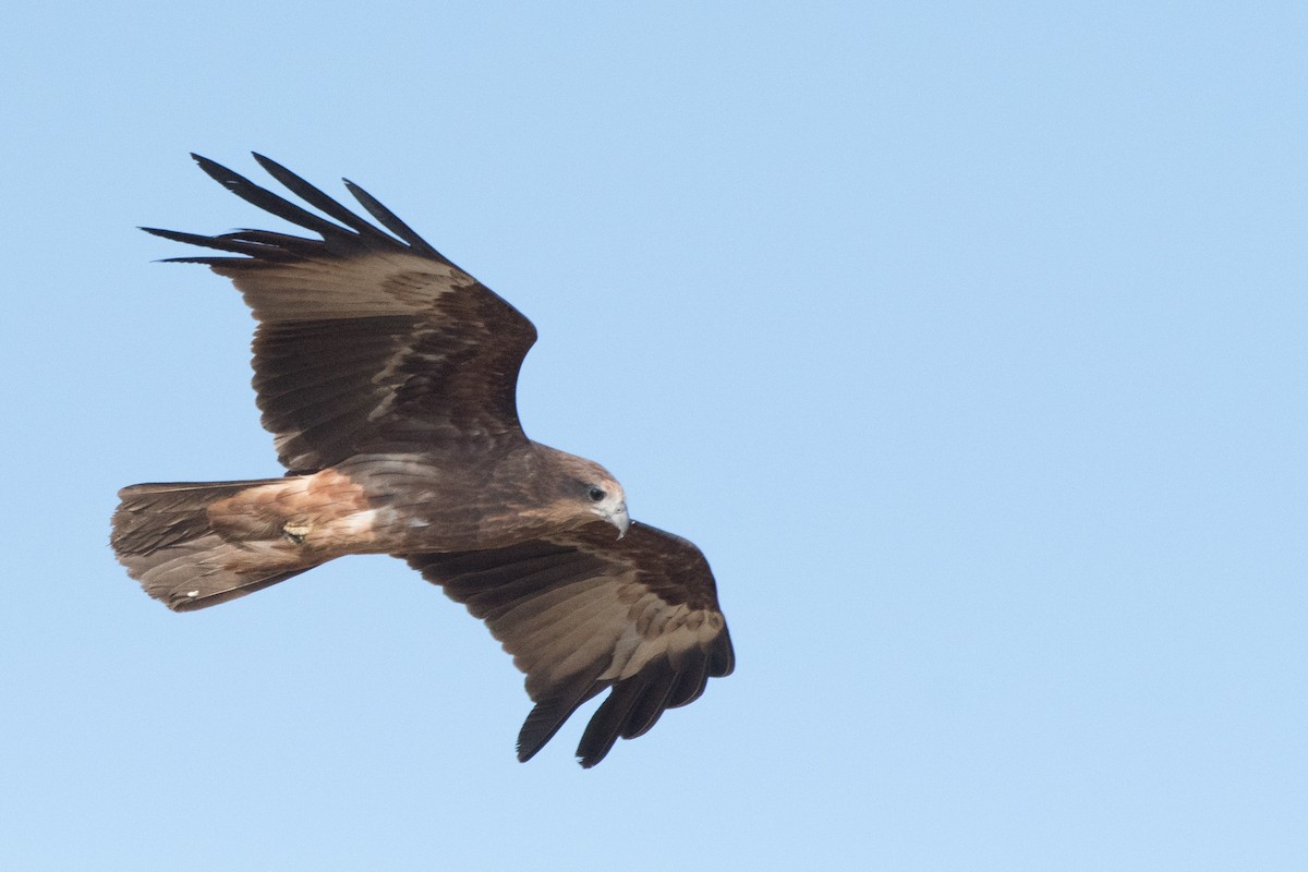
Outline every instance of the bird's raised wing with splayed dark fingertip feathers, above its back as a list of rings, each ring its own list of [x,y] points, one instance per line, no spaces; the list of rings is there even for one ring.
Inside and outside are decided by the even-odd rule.
[[[266,157],[255,159],[339,224],[192,157],[237,196],[320,237],[144,227],[235,255],[171,260],[208,264],[254,310],[254,386],[286,468],[445,439],[525,438],[514,397],[536,331],[521,312],[348,180],[390,234]]]

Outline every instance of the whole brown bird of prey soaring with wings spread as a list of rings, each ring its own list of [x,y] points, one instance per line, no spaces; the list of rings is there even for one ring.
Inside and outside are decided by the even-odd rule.
[[[343,554],[402,557],[484,620],[527,675],[536,705],[519,760],[608,689],[577,749],[594,766],[731,672],[700,550],[632,523],[603,467],[522,431],[531,322],[349,182],[381,227],[258,154],[331,220],[192,157],[320,238],[146,227],[225,252],[174,260],[230,278],[254,311],[254,386],[289,471],[124,488],[111,541],[150,596],[194,611]]]

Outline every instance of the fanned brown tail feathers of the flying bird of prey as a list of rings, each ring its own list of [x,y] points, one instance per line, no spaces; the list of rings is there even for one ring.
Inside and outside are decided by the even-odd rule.
[[[252,594],[317,566],[288,561],[279,540],[228,541],[209,526],[218,499],[281,478],[132,485],[118,492],[110,543],[145,592],[175,612]]]

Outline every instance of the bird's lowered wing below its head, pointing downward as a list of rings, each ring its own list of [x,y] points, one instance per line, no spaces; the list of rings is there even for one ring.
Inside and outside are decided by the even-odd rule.
[[[577,746],[581,765],[594,766],[619,736],[642,735],[735,664],[700,549],[646,524],[621,540],[591,524],[549,541],[407,560],[485,621],[527,673],[536,706],[518,733],[518,760],[612,688]]]

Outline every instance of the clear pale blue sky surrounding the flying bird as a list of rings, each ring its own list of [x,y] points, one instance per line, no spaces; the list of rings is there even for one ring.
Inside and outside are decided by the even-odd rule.
[[[1300,3],[47,3],[0,29],[0,868],[1308,868]],[[581,770],[399,561],[173,614],[277,475],[194,167],[375,193],[738,671]]]

